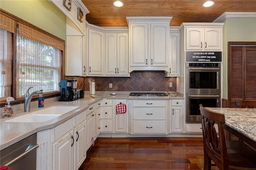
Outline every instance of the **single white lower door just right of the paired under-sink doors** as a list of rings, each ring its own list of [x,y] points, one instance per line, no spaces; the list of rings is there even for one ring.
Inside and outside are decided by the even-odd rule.
[[[92,112],[86,117],[87,124],[87,136],[86,136],[86,147],[87,150],[96,140],[96,111]]]

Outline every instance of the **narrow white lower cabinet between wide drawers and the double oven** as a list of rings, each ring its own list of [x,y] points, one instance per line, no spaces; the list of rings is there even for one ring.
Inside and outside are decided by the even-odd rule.
[[[183,100],[172,100],[171,114],[171,132],[182,132]]]

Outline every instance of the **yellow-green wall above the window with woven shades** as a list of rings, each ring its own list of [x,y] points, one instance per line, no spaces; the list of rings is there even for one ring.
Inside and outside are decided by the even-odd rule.
[[[0,0],[0,8],[66,41],[66,16],[48,0]]]

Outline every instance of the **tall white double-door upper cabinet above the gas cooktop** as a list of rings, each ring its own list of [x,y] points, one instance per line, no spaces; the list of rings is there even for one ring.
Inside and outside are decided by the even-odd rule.
[[[129,25],[129,71],[168,70],[172,17],[126,17]]]

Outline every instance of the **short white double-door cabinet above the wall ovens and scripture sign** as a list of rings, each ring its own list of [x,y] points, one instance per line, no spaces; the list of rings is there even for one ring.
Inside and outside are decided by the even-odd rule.
[[[222,51],[223,23],[182,23],[186,50]]]

